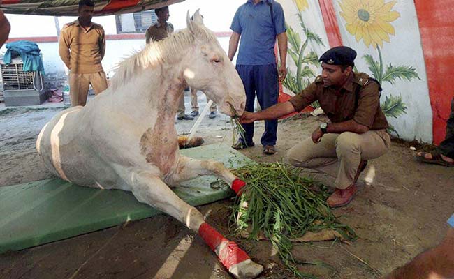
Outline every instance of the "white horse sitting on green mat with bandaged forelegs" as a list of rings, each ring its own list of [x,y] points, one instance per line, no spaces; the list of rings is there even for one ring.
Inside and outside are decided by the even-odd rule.
[[[187,29],[154,42],[119,65],[109,88],[85,107],[71,107],[47,123],[36,148],[48,169],[66,181],[131,191],[196,231],[236,278],[254,278],[263,266],[205,223],[169,186],[200,175],[221,177],[235,192],[244,182],[222,163],[180,155],[177,103],[186,86],[199,89],[231,115],[244,112],[240,77],[203,26],[198,11]]]

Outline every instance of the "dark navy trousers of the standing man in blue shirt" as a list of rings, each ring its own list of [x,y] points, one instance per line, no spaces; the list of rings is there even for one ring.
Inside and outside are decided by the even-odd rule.
[[[237,65],[237,72],[241,77],[246,91],[246,111],[254,112],[256,96],[262,110],[277,104],[279,96],[279,82],[277,67],[270,65]],[[247,144],[253,142],[254,123],[243,124]],[[261,138],[261,144],[276,145],[277,119],[265,121],[265,132]]]

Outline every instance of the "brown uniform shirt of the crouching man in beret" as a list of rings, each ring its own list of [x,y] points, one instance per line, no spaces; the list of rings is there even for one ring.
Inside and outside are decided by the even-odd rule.
[[[361,86],[358,96],[356,91]],[[342,89],[323,86],[321,76],[289,101],[298,112],[318,100],[332,123],[353,119],[370,130],[388,128],[385,114],[380,107],[379,84],[369,80],[365,73],[353,73]]]

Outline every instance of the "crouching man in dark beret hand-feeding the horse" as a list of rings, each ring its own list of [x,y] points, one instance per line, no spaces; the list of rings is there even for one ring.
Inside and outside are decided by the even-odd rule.
[[[355,50],[334,47],[321,61],[322,75],[288,102],[261,112],[244,112],[242,123],[277,119],[300,111],[318,100],[330,123],[321,123],[312,137],[288,151],[288,160],[297,167],[322,167],[339,162],[336,190],[328,198],[331,207],[351,202],[355,185],[367,160],[388,151],[388,121],[380,108],[380,84],[365,73],[353,73]]]

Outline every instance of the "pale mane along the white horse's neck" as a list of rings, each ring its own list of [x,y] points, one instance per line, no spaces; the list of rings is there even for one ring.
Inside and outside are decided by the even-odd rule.
[[[117,65],[110,87],[113,90],[118,89],[133,75],[137,75],[138,72],[150,66],[175,63],[175,60],[184,54],[188,46],[193,45],[196,40],[217,42],[212,31],[198,24],[193,31],[186,28],[170,34],[163,40],[152,41]]]

